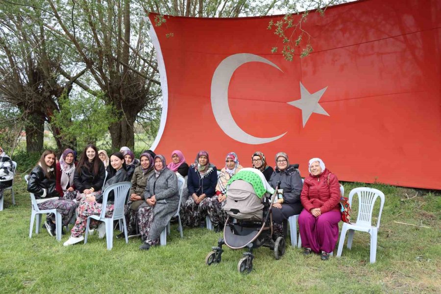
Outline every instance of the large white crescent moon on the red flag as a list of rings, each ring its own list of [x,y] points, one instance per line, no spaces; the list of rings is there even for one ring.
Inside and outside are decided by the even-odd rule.
[[[221,61],[213,74],[213,79],[211,80],[211,107],[216,122],[219,124],[222,131],[232,139],[253,145],[269,143],[283,137],[286,132],[272,138],[251,136],[237,125],[231,115],[230,107],[228,106],[228,86],[230,84],[231,76],[241,65],[247,62],[263,62],[282,71],[268,59],[258,55],[239,53],[228,56]]]

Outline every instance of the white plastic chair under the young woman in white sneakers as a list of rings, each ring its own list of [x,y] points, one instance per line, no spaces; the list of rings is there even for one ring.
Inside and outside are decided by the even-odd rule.
[[[99,216],[89,216],[87,218],[87,224],[86,224],[86,236],[84,237],[84,244],[87,243],[87,237],[89,236],[89,224],[90,220],[94,219],[97,221],[103,221],[106,226],[106,240],[107,240],[107,249],[111,250],[113,247],[113,221],[120,221],[120,228],[123,227],[124,236],[125,236],[125,243],[128,243],[127,238],[127,226],[125,223],[125,217],[124,217],[124,203],[128,195],[128,191],[132,187],[131,182],[121,182],[116,183],[113,185],[110,185],[106,188],[106,190],[103,192],[102,196],[102,209]],[[109,193],[113,191],[115,195],[114,200],[114,209],[112,216],[110,218],[106,218],[106,205],[107,205],[107,197],[109,196]],[[123,225],[121,224],[121,221],[123,221]]]

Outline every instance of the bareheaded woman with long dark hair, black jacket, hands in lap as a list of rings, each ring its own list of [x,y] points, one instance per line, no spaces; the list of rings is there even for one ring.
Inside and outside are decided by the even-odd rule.
[[[81,201],[88,195],[98,195],[105,176],[104,164],[98,157],[97,147],[87,145],[73,173],[73,184],[78,190],[76,200]]]

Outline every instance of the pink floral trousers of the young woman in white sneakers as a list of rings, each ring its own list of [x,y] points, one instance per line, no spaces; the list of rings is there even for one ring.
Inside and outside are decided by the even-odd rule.
[[[106,205],[106,214],[107,218],[112,216],[114,204]],[[79,237],[86,231],[87,217],[96,215],[98,216],[101,213],[102,204],[97,201],[87,201],[86,199],[80,201],[77,208],[77,217],[75,224],[71,230],[73,237]],[[92,220],[91,227],[97,226],[98,221]]]

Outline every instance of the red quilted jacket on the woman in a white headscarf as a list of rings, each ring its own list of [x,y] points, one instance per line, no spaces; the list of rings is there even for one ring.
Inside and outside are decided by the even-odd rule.
[[[329,174],[331,175],[328,185]],[[340,184],[337,176],[327,169],[318,176],[309,174],[303,183],[300,201],[309,212],[313,208],[320,208],[321,213],[340,211]]]

